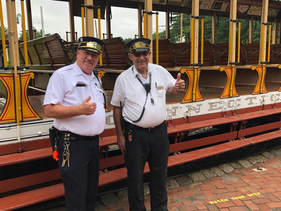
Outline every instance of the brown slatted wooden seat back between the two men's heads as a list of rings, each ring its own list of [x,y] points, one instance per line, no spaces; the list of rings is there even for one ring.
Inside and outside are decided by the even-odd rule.
[[[128,57],[128,47],[121,37],[102,40],[102,67],[105,69],[128,69],[131,60]]]

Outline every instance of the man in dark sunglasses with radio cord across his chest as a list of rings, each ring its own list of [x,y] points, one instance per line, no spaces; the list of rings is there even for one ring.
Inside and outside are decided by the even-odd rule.
[[[163,67],[149,63],[150,42],[140,38],[127,43],[133,66],[117,77],[111,100],[117,143],[128,171],[130,211],[146,210],[143,193],[146,161],[150,169],[151,210],[167,210],[169,140],[165,96],[166,91],[178,93],[185,88],[180,73],[174,79]]]

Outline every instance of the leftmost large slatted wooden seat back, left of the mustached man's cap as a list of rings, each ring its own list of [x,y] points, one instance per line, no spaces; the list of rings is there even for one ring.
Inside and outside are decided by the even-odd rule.
[[[73,59],[68,57],[64,45],[70,45],[68,49],[71,49],[73,44],[66,44],[58,34],[28,41],[27,54],[30,69],[56,70],[71,64]],[[23,43],[19,44],[19,54],[25,64]]]

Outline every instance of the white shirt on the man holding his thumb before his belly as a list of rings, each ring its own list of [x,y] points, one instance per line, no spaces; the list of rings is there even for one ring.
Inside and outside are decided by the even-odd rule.
[[[76,86],[77,84],[85,84],[85,86]],[[99,85],[95,75],[83,73],[76,62],[56,70],[49,80],[44,105],[52,103],[62,106],[78,106],[90,95],[89,102],[97,103],[97,109],[92,115],[54,119],[54,127],[58,130],[86,136],[102,133],[105,126],[105,110],[103,91]]]

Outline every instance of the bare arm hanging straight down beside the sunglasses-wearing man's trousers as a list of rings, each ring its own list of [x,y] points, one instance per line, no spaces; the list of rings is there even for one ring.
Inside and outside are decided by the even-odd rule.
[[[114,106],[113,119],[116,128],[116,134],[117,134],[117,144],[122,154],[124,154],[126,148],[125,148],[125,136],[123,134],[122,127],[121,127],[121,109],[122,108],[120,106]]]

